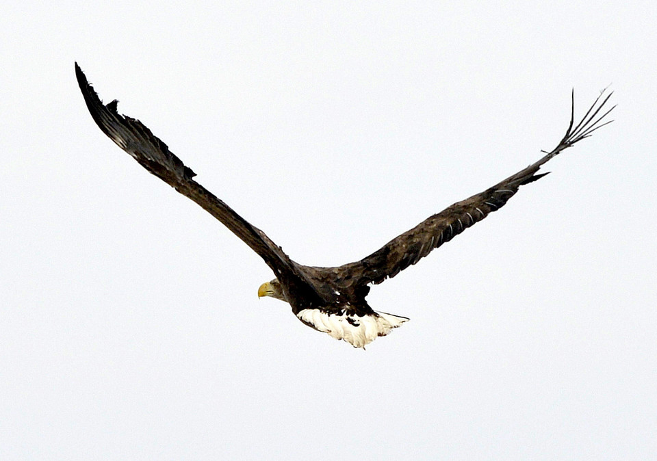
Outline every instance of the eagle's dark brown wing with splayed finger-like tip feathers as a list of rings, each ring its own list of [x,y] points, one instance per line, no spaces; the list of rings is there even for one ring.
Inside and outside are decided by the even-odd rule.
[[[551,152],[546,153],[545,157],[486,189],[484,192],[454,203],[451,207],[431,216],[411,230],[392,239],[383,248],[361,261],[333,269],[334,273],[343,280],[348,280],[350,285],[363,285],[370,282],[381,283],[386,278],[396,276],[409,265],[417,263],[434,248],[450,241],[468,227],[486,218],[489,213],[502,208],[508,199],[518,192],[521,185],[536,181],[548,174],[537,174],[543,163],[576,142],[589,137],[598,128],[610,123],[612,120],[604,121],[604,118],[615,106],[602,115],[600,115],[600,111],[611,94],[613,93],[608,94],[602,100],[602,103],[598,105],[600,98],[604,95],[603,91],[576,127],[574,127],[573,95],[569,127],[563,139]]]

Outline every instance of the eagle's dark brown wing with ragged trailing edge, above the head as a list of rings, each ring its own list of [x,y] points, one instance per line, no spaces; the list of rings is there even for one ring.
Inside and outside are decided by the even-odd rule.
[[[294,285],[298,293],[304,292],[307,285],[300,275],[298,266],[276,246],[265,233],[249,224],[235,213],[231,207],[211,194],[205,187],[192,179],[194,172],[185,166],[157,136],[151,133],[142,122],[116,111],[117,101],[107,105],[87,81],[81,68],[75,63],[75,75],[84,96],[84,101],[96,124],[112,141],[129,153],[141,166],[155,174],[159,179],[174,187],[178,192],[201,205],[208,213],[220,220],[237,237],[240,237],[274,271],[281,281]]]

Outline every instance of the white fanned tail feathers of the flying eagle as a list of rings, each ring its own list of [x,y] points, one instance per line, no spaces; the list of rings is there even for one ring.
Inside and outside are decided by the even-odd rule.
[[[296,316],[332,338],[344,339],[354,347],[363,348],[409,320],[382,312],[359,317],[346,312],[343,315],[331,314],[320,309],[303,309]]]

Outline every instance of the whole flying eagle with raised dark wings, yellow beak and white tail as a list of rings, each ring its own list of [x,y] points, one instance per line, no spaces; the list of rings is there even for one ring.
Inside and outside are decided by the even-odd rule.
[[[77,62],[75,74],[91,116],[105,135],[146,170],[201,205],[259,254],[272,269],[275,278],[259,287],[259,297],[270,296],[285,301],[292,306],[292,313],[307,326],[328,333],[335,339],[342,339],[354,347],[363,348],[408,321],[407,317],[374,311],[365,300],[370,285],[396,276],[434,248],[503,207],[521,185],[532,183],[548,174],[537,174],[543,163],[610,123],[612,120],[606,121],[606,116],[615,107],[602,113],[602,108],[613,94],[609,93],[598,104],[604,95],[603,91],[582,120],[574,125],[574,94],[571,94],[568,129],[553,150],[543,151],[545,156],[539,161],[484,192],[430,216],[360,261],[339,267],[313,267],[289,259],[282,248],[263,231],[194,181],[192,178],[196,175],[192,169],[173,155],[166,144],[142,122],[118,114],[116,100],[103,105]]]

